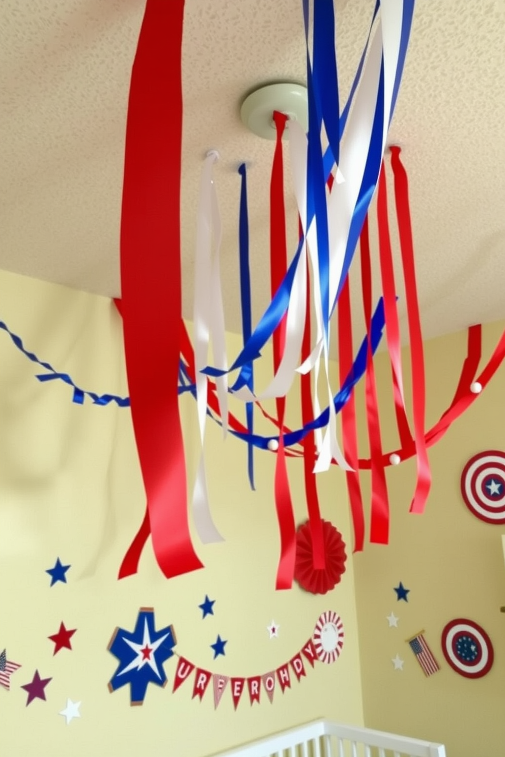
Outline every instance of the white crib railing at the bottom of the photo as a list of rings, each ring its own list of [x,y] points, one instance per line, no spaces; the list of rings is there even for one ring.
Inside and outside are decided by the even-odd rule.
[[[320,720],[239,746],[219,757],[446,757],[445,747]]]

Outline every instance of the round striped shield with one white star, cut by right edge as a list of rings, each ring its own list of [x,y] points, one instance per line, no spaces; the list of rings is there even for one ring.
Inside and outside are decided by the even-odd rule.
[[[463,500],[486,523],[505,523],[505,453],[488,450],[474,455],[461,474]]]

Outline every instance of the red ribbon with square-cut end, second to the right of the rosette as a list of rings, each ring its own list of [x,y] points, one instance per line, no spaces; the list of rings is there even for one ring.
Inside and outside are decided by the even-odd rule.
[[[366,356],[366,423],[372,460],[372,512],[370,517],[370,541],[373,544],[388,544],[389,536],[389,502],[384,464],[382,463],[382,441],[377,404],[376,375],[373,368],[371,346],[372,321],[372,269],[370,264],[370,245],[368,235],[368,217],[365,218],[360,236],[361,286],[363,291],[363,312],[365,314],[366,334],[368,335],[368,354]]]

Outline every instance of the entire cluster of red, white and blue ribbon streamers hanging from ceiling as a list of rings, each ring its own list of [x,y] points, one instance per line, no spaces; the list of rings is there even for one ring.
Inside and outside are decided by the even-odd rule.
[[[413,5],[413,0],[377,0],[351,92],[341,109],[333,3],[329,0],[313,3],[302,0],[309,129],[306,135],[298,123],[286,123],[285,116],[275,115],[277,140],[270,187],[271,301],[255,328],[251,320],[245,164],[239,169],[243,347],[229,365],[220,291],[221,224],[212,179],[215,154],[207,156],[201,176],[195,254],[194,347],[181,321],[179,194],[184,2],[148,0],[129,93],[121,218],[121,309],[129,403],[147,507],[139,533],[123,560],[120,577],[136,572],[149,534],[157,562],[167,577],[201,567],[189,535],[185,459],[177,403],[178,394],[186,391],[193,394],[198,409],[201,456],[192,513],[196,531],[203,542],[222,539],[210,515],[205,481],[204,430],[207,416],[210,416],[220,422],[223,435],[229,430],[231,435],[248,445],[248,475],[252,488],[254,447],[267,450],[272,441],[278,443],[274,489],[281,549],[277,588],[291,586],[295,565],[295,521],[286,456],[302,453],[304,456],[315,569],[323,569],[325,555],[313,471],[322,472],[332,462],[338,463],[346,473],[354,549],[361,550],[364,544],[359,469],[372,470],[370,540],[387,543],[389,513],[385,467],[390,461],[382,450],[373,369],[373,354],[384,326],[401,444],[397,453],[401,459],[416,454],[417,481],[411,510],[422,512],[430,486],[426,449],[475,399],[475,395],[469,394],[468,379],[470,374],[475,375],[479,364],[480,332],[476,327],[469,332],[469,354],[453,403],[440,422],[426,432],[425,378],[407,174],[401,164],[399,149],[393,148],[391,166],[413,373],[411,433],[404,402],[383,155],[404,69]],[[311,16],[312,39],[309,33]],[[166,94],[169,87],[175,92],[170,101]],[[298,248],[289,261],[282,169],[282,132],[285,128],[288,129],[291,174],[300,222]],[[323,134],[328,142],[326,150],[323,150]],[[377,186],[379,262],[384,298],[379,299],[376,311],[372,313],[367,214]],[[353,361],[349,270],[359,240],[366,338]],[[165,291],[167,282],[171,286],[169,297]],[[335,307],[338,307],[341,389],[334,395],[329,381],[329,344],[330,319]],[[314,335],[310,329],[311,308],[315,316]],[[161,324],[164,324],[162,329]],[[270,340],[273,341],[273,378],[266,388],[258,391],[254,385],[254,362]],[[210,344],[213,345],[212,365],[209,365],[208,358]],[[483,386],[503,360],[503,354],[505,336],[479,377]],[[321,359],[326,410],[321,410],[318,397]],[[44,367],[49,372],[41,375],[41,380],[63,378],[67,381],[65,375],[56,374],[48,364]],[[301,374],[303,427],[290,430],[285,425],[285,395],[297,371]],[[229,381],[232,373],[236,373],[233,382]],[[358,458],[353,391],[363,375],[370,441],[368,460]],[[74,388],[74,401],[82,402],[85,393],[79,394],[73,382],[70,383]],[[245,424],[228,413],[229,393],[245,403]],[[88,394],[98,403],[117,402],[112,395]],[[276,399],[276,417],[270,416],[261,406],[261,401],[269,398]],[[275,432],[270,437],[254,433],[255,406],[273,422]],[[343,452],[336,436],[336,416],[341,410]],[[301,450],[293,449],[299,444]]]

